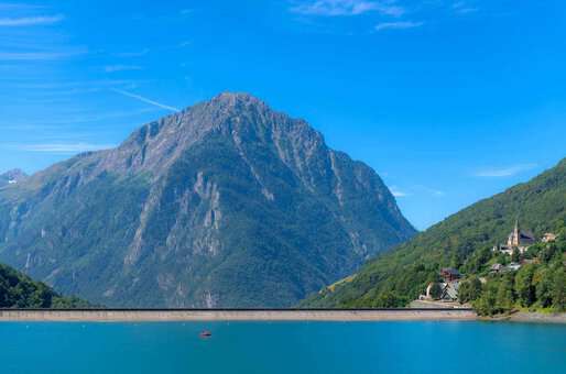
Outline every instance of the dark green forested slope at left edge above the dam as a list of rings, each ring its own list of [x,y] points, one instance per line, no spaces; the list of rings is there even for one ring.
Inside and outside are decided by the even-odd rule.
[[[0,308],[86,308],[76,297],[63,297],[41,282],[0,264]]]

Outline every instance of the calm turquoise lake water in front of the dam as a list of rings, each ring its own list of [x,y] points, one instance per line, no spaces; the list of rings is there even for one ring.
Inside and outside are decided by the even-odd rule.
[[[1,373],[566,373],[553,324],[1,322],[0,337]]]

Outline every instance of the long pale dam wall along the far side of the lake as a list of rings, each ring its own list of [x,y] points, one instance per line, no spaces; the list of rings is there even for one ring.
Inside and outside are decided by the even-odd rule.
[[[468,309],[377,310],[0,310],[0,322],[175,322],[175,321],[465,321]]]

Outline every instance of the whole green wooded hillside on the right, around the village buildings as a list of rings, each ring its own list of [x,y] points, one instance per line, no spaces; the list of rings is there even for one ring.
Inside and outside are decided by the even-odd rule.
[[[518,272],[491,276],[493,245],[503,243],[516,218],[537,238],[560,233],[552,245],[537,244],[534,260]],[[355,276],[323,289],[301,307],[404,307],[418,297],[445,266],[465,274],[466,301],[482,314],[511,308],[564,308],[564,239],[566,234],[566,160],[529,183],[479,201],[420,233],[390,253],[367,263]],[[521,260],[521,258],[514,258]],[[524,258],[529,260],[529,258]],[[482,277],[485,283],[479,282]]]

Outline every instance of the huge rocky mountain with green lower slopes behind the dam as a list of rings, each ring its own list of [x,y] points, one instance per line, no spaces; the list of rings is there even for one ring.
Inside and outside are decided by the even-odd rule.
[[[291,306],[414,232],[370,167],[243,94],[0,187],[0,260],[108,306]]]

